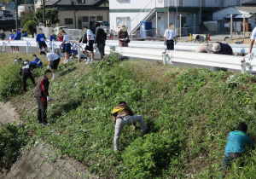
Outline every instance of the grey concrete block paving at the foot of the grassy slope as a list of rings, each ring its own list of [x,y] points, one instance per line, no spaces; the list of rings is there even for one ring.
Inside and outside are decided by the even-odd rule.
[[[0,102],[0,122],[20,123],[20,116],[12,105]],[[57,158],[55,156],[58,156]],[[56,155],[55,148],[42,141],[36,141],[34,146],[29,144],[20,151],[10,170],[2,171],[3,179],[84,179],[100,178],[91,175],[85,166],[71,158]]]

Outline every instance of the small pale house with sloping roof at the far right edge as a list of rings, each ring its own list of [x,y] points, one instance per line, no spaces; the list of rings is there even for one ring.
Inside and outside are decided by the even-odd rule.
[[[230,31],[230,25],[224,27],[224,23],[230,24],[230,14],[232,14],[233,32],[243,31],[243,15],[245,15],[245,30],[246,32],[251,32],[256,26],[256,6],[251,6],[251,3],[249,4],[250,6],[231,6],[214,11],[212,19],[217,21],[218,31]]]

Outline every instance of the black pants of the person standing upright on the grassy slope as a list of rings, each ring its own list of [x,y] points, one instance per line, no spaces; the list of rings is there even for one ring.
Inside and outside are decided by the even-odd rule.
[[[37,97],[38,100],[38,123],[47,123],[47,99],[46,96]]]

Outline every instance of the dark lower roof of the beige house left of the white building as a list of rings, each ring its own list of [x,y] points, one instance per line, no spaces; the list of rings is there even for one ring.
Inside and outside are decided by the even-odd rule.
[[[58,10],[109,10],[108,7],[95,7],[94,5],[71,6],[71,5],[55,5]]]

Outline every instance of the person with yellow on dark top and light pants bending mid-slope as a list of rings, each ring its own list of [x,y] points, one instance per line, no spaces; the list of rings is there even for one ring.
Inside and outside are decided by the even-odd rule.
[[[113,124],[115,124],[113,150],[119,150],[119,138],[125,124],[132,124],[139,122],[144,132],[148,131],[147,125],[144,123],[143,117],[134,115],[131,108],[125,101],[120,101],[117,107],[113,107]]]

